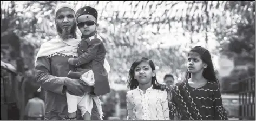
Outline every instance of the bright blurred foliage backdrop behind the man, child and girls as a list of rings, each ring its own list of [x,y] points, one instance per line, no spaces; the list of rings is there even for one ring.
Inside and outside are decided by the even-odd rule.
[[[64,1],[11,1],[10,8],[14,11],[12,15],[14,21],[11,21],[12,24],[6,27],[8,30],[4,32],[14,30],[21,39],[21,46],[30,45],[32,49],[38,48],[41,43],[56,35],[53,12],[56,4],[61,2]],[[229,4],[228,1],[67,2],[74,4],[76,8],[90,5],[99,11],[101,25],[99,31],[108,50],[106,58],[111,66],[111,80],[127,78],[124,73],[128,73],[130,64],[140,56],[147,56],[154,60],[159,69],[159,77],[166,72],[182,77],[182,72],[186,69],[185,53],[198,42],[206,41],[207,44],[213,41],[214,35],[211,33],[221,28],[216,23],[219,22],[223,13],[228,11],[225,8]],[[1,6],[8,6],[8,4],[1,2]],[[123,7],[127,9],[121,9]],[[8,13],[10,9],[4,7],[1,10]],[[222,10],[226,11],[222,12]],[[244,15],[244,12],[241,15]],[[1,29],[1,35],[4,32]],[[173,36],[167,36],[168,33]],[[196,38],[195,36],[198,35],[201,37]],[[183,36],[182,40],[180,40],[181,36]],[[179,41],[185,41],[186,44],[172,46],[169,44],[167,45],[169,49],[162,47],[172,42],[179,43]],[[35,52],[31,52],[33,51],[30,51],[29,56],[36,55]],[[215,52],[218,50],[213,51]],[[24,53],[27,54],[27,52]]]

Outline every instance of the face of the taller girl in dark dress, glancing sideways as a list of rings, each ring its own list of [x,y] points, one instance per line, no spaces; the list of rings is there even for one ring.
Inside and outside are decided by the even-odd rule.
[[[189,52],[187,67],[189,73],[198,73],[207,68],[207,64],[202,61],[199,53]]]

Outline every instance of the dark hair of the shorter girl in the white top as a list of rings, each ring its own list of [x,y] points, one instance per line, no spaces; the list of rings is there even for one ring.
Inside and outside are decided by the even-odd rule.
[[[152,68],[152,71],[155,70],[155,64],[153,63],[152,60],[145,58],[145,57],[135,60],[135,62],[133,62],[132,66],[130,67],[129,77],[127,80],[127,82],[128,82],[127,87],[130,90],[133,90],[133,89],[137,88],[137,86],[139,86],[139,82],[137,81],[137,79],[134,78],[134,70],[135,70],[136,66],[138,66],[141,62],[148,62],[148,64]],[[152,77],[151,83],[152,83],[154,89],[160,89],[160,85],[156,80],[156,76]]]

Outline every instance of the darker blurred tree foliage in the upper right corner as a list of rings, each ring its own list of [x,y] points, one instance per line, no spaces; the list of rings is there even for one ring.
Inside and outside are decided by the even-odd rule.
[[[216,31],[221,52],[234,58],[235,65],[255,66],[255,1],[230,1],[225,10],[221,19],[228,24]]]

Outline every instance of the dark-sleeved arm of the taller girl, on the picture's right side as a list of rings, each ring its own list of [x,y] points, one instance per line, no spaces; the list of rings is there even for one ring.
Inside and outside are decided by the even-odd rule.
[[[218,86],[218,90],[213,92],[213,106],[214,106],[214,118],[215,120],[228,120],[226,110],[222,105],[222,98]]]

